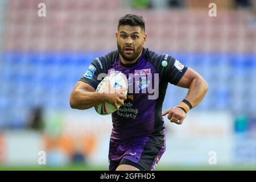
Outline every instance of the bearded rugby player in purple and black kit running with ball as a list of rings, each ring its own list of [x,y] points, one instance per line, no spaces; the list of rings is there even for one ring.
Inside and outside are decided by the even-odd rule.
[[[127,14],[119,19],[115,32],[117,50],[97,57],[75,85],[70,97],[73,109],[89,109],[104,101],[118,108],[112,114],[113,129],[109,143],[109,170],[154,170],[166,150],[164,115],[181,125],[190,109],[197,106],[208,90],[207,81],[191,68],[185,67],[170,55],[158,54],[144,48],[147,34],[142,16]],[[96,92],[101,73],[124,73],[129,90],[114,93]],[[133,81],[130,74],[139,76]],[[149,75],[158,75],[148,79]],[[158,97],[149,99],[151,93],[142,91],[157,84]],[[188,93],[176,106],[162,113],[162,104],[168,83],[188,88]],[[127,89],[127,88],[126,88]],[[130,88],[129,88],[130,89]],[[174,96],[175,97],[175,96]]]

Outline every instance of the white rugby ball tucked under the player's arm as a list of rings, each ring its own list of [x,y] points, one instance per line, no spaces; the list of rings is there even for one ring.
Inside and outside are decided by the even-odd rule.
[[[103,91],[105,89],[107,78],[109,78],[110,86],[112,88],[123,88],[123,87],[128,88],[128,80],[127,80],[126,75],[121,72],[117,72],[117,73],[112,73],[112,75],[106,76],[100,82],[100,84],[98,84],[96,92]],[[123,92],[123,94],[126,96],[127,92],[128,92],[128,90]],[[120,107],[121,105],[119,104],[118,106]],[[97,111],[97,113],[101,114],[101,115],[111,114],[117,110],[115,108],[115,106],[113,106],[109,102],[103,102],[101,104],[98,104],[97,106],[94,106],[94,108]]]

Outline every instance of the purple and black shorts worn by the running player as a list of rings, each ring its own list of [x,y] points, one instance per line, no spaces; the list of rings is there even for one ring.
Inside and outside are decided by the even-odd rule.
[[[110,140],[109,170],[114,171],[119,165],[128,164],[141,171],[152,171],[164,151],[166,151],[164,131],[125,143]]]

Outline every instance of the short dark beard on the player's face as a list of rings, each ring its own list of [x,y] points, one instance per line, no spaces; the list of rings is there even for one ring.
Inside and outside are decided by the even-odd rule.
[[[143,44],[139,45],[137,49],[133,48],[133,47],[128,47],[128,46],[124,46],[123,48],[118,44],[117,42],[117,48],[119,53],[121,54],[121,56],[123,57],[123,59],[125,59],[126,61],[133,61],[135,59],[137,59],[137,57],[139,57],[139,55],[141,54],[141,51],[143,49]],[[126,54],[125,53],[125,49],[126,48],[131,48],[133,49],[132,53]]]

